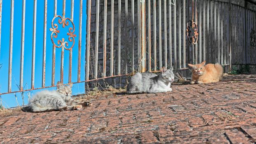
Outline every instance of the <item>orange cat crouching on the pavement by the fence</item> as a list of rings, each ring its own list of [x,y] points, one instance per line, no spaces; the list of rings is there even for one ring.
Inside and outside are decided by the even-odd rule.
[[[223,67],[219,63],[205,65],[203,61],[196,65],[189,64],[189,67],[192,70],[190,84],[205,84],[222,80]]]

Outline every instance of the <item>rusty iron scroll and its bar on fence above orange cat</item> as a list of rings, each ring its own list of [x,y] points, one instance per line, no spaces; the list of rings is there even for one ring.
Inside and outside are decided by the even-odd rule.
[[[187,38],[190,43],[197,44],[198,41],[198,28],[197,23],[194,21],[194,0],[192,6],[192,21],[187,22]]]

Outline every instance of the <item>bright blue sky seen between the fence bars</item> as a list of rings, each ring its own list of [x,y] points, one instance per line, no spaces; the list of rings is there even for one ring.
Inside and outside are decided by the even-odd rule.
[[[62,0],[57,0],[57,15],[62,16]],[[66,15],[70,17],[70,0],[66,0]],[[9,60],[9,35],[10,35],[10,5],[11,0],[2,1],[2,31],[1,31],[1,51],[0,63],[0,93],[7,92],[8,87],[8,60]],[[32,37],[33,37],[33,5],[34,0],[26,0],[26,16],[25,16],[25,48],[24,48],[24,75],[23,87],[30,89],[31,87],[31,66],[32,66]],[[72,81],[77,81],[77,55],[78,55],[78,40],[79,40],[79,0],[74,0],[74,25],[75,45],[73,47],[72,58]],[[13,33],[13,59],[12,59],[12,91],[18,91],[20,79],[20,58],[21,58],[21,23],[22,23],[22,0],[14,0],[14,33]],[[54,0],[48,0],[47,4],[47,45],[46,45],[46,81],[45,86],[51,86],[51,65],[52,65],[52,42],[51,42],[51,20],[54,18]],[[57,21],[55,23],[58,23]],[[70,23],[71,25],[71,23]],[[44,0],[37,0],[37,26],[36,26],[36,50],[35,50],[35,88],[42,86],[42,51],[43,51],[43,28],[44,28]],[[60,34],[58,38],[65,38],[67,41],[67,32],[69,27],[62,28],[58,25]],[[82,40],[81,40],[81,81],[85,77],[85,49],[86,49],[86,0],[83,1],[83,16],[82,16]],[[56,40],[57,43],[57,40]],[[72,45],[72,43],[70,43]],[[61,48],[56,48],[56,73],[55,84],[60,80],[60,65],[61,65]],[[69,51],[64,53],[64,83],[68,83],[68,63]],[[48,88],[49,90],[56,89]],[[84,83],[73,85],[73,94],[84,92]],[[37,90],[38,91],[38,90]],[[28,103],[28,95],[31,96],[37,91],[24,93],[24,103]],[[42,91],[42,90],[39,90]],[[23,100],[21,93],[16,93],[16,98],[19,105],[22,105]],[[5,107],[17,106],[14,93],[1,95],[2,104]]]

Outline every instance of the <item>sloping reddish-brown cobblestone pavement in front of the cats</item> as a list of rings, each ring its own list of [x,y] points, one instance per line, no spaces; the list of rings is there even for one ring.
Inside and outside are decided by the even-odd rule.
[[[7,116],[0,119],[0,142],[255,143],[256,75],[172,89],[110,95],[77,111]]]

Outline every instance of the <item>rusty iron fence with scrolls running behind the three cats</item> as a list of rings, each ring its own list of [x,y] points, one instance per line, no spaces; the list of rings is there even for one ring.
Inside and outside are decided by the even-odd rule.
[[[83,0],[79,2],[79,26],[73,23],[74,0],[70,17],[66,17],[67,2],[62,15],[57,15],[57,1],[51,28],[47,27],[47,0],[44,0],[44,40],[42,54],[42,87],[35,88],[35,39],[37,0],[33,7],[33,52],[31,88],[23,88],[24,28],[26,0],[22,5],[22,34],[19,91],[12,91],[12,51],[14,0],[11,0],[9,41],[8,90],[6,93],[31,91],[53,87],[55,79],[56,48],[61,51],[61,77],[63,83],[64,51],[69,51],[68,83],[89,82],[99,79],[127,76],[135,72],[157,72],[163,66],[187,69],[188,63],[256,64],[256,4],[254,1],[233,0],[87,0],[86,67],[81,69],[81,36]],[[85,3],[85,2],[84,2]],[[137,10],[136,10],[137,9]],[[92,13],[93,12],[93,13]],[[0,28],[2,0],[0,0]],[[48,15],[49,16],[49,15]],[[56,22],[55,19],[58,19]],[[69,27],[68,40],[57,39],[58,26]],[[110,29],[110,30],[109,30]],[[45,85],[46,33],[51,31],[52,77],[51,85]],[[1,35],[1,30],[0,30]],[[78,39],[78,40],[77,40]],[[78,41],[78,47],[74,43]],[[72,49],[78,49],[78,67],[72,70]],[[81,70],[86,77],[80,77]],[[72,72],[77,80],[72,81]]]

